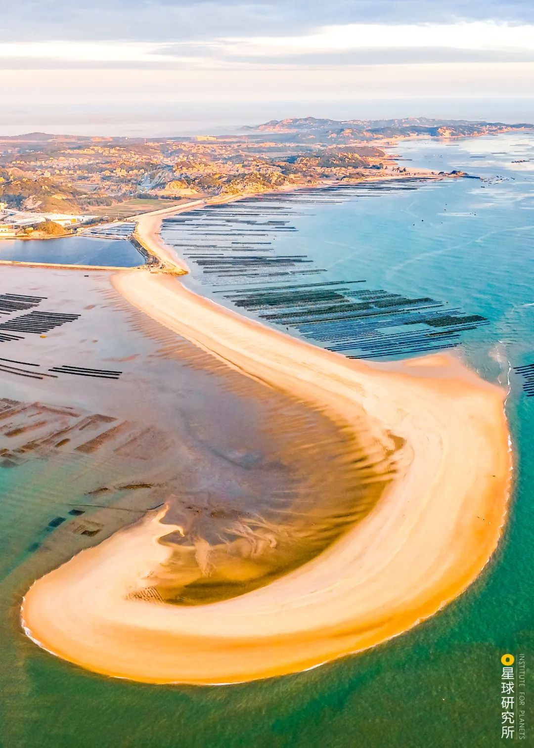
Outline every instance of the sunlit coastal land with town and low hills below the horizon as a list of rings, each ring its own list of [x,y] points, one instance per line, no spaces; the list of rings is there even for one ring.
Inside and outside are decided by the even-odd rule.
[[[34,132],[0,138],[0,239],[64,236],[79,227],[177,206],[324,182],[443,177],[399,165],[402,138],[505,132],[500,123],[313,118],[232,135],[114,138]],[[431,124],[429,124],[431,123]],[[515,129],[523,129],[518,125]]]

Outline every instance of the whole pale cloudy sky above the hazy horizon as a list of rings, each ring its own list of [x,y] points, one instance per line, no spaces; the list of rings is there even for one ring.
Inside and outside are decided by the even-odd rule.
[[[8,102],[0,124],[50,108],[74,116],[179,104],[193,111],[209,102],[231,119],[242,102],[534,96],[532,0],[0,0],[0,7]]]

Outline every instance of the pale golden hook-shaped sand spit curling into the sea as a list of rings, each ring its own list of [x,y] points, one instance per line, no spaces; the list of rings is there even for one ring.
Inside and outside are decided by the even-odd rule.
[[[350,361],[243,319],[168,275],[133,271],[113,282],[162,325],[341,428],[357,424],[363,408],[369,445],[403,440],[408,458],[375,508],[314,560],[209,605],[132,599],[165,566],[170,551],[159,539],[177,529],[163,512],[147,515],[31,586],[22,622],[40,646],[137,681],[249,681],[395,637],[478,576],[509,497],[503,390],[445,355],[396,367]]]

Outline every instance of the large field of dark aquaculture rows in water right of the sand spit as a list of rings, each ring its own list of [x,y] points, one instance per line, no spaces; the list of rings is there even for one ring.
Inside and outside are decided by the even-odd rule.
[[[303,278],[298,283],[302,276],[325,270],[306,255],[277,254],[273,247],[277,236],[297,230],[291,219],[310,215],[310,206],[416,188],[413,182],[396,180],[263,194],[168,218],[163,235],[200,269],[200,282],[216,287],[215,294],[331,351],[349,358],[381,358],[452,348],[464,331],[488,320],[427,296],[362,289],[363,280],[313,283]]]

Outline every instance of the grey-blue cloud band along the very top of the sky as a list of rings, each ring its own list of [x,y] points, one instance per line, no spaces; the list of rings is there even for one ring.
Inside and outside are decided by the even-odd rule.
[[[317,28],[369,23],[534,22],[531,0],[19,0],[4,3],[9,40],[210,40],[300,36]]]

